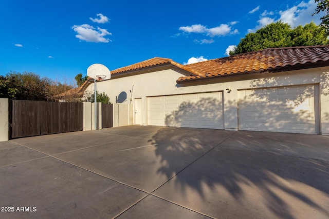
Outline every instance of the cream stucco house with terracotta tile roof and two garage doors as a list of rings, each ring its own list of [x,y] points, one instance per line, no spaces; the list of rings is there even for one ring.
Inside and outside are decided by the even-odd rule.
[[[329,135],[329,46],[190,65],[155,57],[111,71],[97,90],[133,107],[135,125]]]

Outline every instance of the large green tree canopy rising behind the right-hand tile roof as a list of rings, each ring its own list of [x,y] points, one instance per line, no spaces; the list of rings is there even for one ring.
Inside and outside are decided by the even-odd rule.
[[[290,25],[278,21],[246,34],[230,55],[252,52],[267,48],[327,45],[327,33],[322,26],[314,22],[291,28]]]

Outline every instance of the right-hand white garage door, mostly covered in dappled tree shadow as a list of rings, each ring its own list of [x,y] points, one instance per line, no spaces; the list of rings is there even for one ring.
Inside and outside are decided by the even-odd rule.
[[[317,134],[315,88],[309,85],[238,91],[239,129]]]

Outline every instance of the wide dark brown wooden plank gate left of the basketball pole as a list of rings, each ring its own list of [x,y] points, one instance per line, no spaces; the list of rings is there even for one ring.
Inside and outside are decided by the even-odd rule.
[[[11,138],[83,130],[82,103],[13,100],[11,109]]]

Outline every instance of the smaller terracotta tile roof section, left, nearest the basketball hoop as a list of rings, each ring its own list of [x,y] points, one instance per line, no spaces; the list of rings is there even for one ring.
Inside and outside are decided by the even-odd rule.
[[[154,57],[154,58],[148,59],[148,60],[140,62],[140,63],[136,63],[133,65],[115,69],[115,70],[111,71],[111,75],[128,72],[128,71],[133,71],[133,70],[138,70],[138,69],[142,69],[142,68],[160,66],[160,65],[173,65],[180,69],[184,69],[184,70],[188,71],[189,73],[191,73],[191,75],[199,75],[199,73],[196,70],[191,69],[188,66],[184,66],[179,63],[176,63],[170,58],[159,58],[159,57]]]

